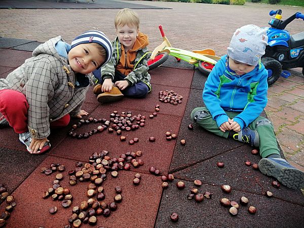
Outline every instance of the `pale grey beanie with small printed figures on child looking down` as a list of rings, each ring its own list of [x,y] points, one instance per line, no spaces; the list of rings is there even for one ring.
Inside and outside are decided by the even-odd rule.
[[[256,66],[268,45],[265,29],[248,24],[238,28],[227,48],[228,56],[239,62]]]

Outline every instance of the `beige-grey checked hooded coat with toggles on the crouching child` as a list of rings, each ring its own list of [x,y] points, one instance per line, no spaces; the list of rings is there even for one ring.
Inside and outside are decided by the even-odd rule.
[[[38,46],[31,58],[0,79],[0,90],[12,89],[23,93],[29,104],[28,128],[32,137],[50,135],[50,122],[67,113],[77,114],[85,100],[88,87],[76,87],[75,74],[67,59],[59,56],[55,37]]]

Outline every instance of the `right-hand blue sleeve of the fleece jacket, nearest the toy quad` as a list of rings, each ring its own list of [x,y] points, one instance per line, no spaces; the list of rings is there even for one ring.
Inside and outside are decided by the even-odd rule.
[[[268,73],[263,69],[260,73],[259,82],[252,89],[253,93],[250,95],[250,101],[245,106],[244,110],[235,117],[242,128],[247,127],[254,121],[267,105],[267,90],[268,90]]]

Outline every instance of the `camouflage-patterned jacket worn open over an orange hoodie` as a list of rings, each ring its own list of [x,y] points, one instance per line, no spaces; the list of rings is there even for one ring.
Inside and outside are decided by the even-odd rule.
[[[103,67],[100,68],[101,70],[101,77],[102,79],[111,79],[114,80],[114,74],[115,74],[115,68],[119,64],[122,48],[121,43],[118,40],[118,37],[116,37],[115,41],[112,42],[113,47],[113,54],[111,57],[111,60],[105,64]],[[135,61],[132,63],[134,64],[134,69],[126,76],[125,80],[128,80],[131,85],[134,85],[140,81],[144,82],[148,88],[149,91],[151,90],[151,84],[150,84],[150,74],[148,73],[148,54],[149,51],[147,47],[143,47],[137,50]],[[130,84],[129,83],[129,84]]]

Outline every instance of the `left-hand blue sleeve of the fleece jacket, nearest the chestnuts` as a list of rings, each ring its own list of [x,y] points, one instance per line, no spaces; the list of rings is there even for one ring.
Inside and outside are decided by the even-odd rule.
[[[224,70],[225,68],[222,60],[219,60],[210,72],[203,91],[203,101],[218,127],[222,123],[228,121],[228,116],[220,106],[221,101],[217,95],[217,92],[219,93],[220,76],[223,74]]]

